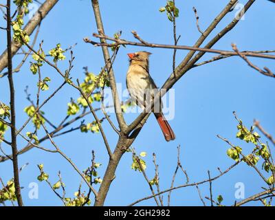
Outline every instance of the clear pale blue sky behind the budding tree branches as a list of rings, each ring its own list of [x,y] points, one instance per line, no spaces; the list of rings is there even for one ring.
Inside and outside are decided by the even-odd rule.
[[[1,1],[1,3],[3,3]],[[104,21],[105,32],[110,36],[122,30],[122,38],[133,40],[131,30],[136,30],[143,39],[150,42],[173,44],[173,26],[168,21],[166,14],[158,10],[164,6],[166,1],[100,1],[102,19]],[[195,16],[192,6],[197,8],[199,13],[199,24],[204,30],[212,19],[221,12],[225,3],[228,1],[177,1],[179,8],[179,18],[177,19],[177,32],[181,34],[179,45],[193,45],[199,37],[195,24]],[[240,1],[245,3],[245,1]],[[272,50],[274,49],[274,10],[275,4],[266,0],[258,0],[247,14],[245,20],[240,21],[236,28],[228,33],[214,48],[231,50],[231,43],[236,43],[239,50]],[[211,34],[217,34],[227,23],[229,23],[236,11],[217,25]],[[0,25],[4,26],[3,19]],[[43,20],[38,42],[44,40],[43,48],[45,52],[52,49],[56,43],[61,43],[63,48],[74,45],[74,69],[72,76],[74,79],[84,78],[83,67],[89,67],[89,71],[98,74],[100,67],[104,65],[100,47],[93,47],[83,42],[83,38],[96,32],[96,23],[88,0],[65,1],[57,3],[54,10]],[[211,39],[211,36],[208,39]],[[5,49],[5,32],[0,32],[0,49]],[[33,39],[33,36],[31,37]],[[36,45],[37,48],[37,45]],[[122,87],[126,88],[125,76],[128,68],[129,52],[144,50],[144,48],[127,46],[118,53],[118,58],[114,65],[115,77]],[[161,86],[172,70],[172,50],[151,49],[151,75],[155,83]],[[186,51],[177,52],[177,64],[187,54]],[[69,57],[69,54],[67,54]],[[213,54],[203,56],[202,60],[211,58]],[[20,58],[14,58],[14,65],[19,63]],[[29,62],[30,60],[28,60]],[[270,67],[275,69],[274,61],[265,61],[259,58],[252,58],[259,67]],[[32,98],[35,99],[37,76],[33,76],[29,70],[29,63],[26,63],[19,74],[14,74],[17,101],[17,126],[21,126],[27,115],[23,113],[24,107],[29,105],[25,99],[23,90],[28,85]],[[61,69],[67,67],[67,61],[63,61]],[[45,65],[43,67],[43,77],[52,78],[50,90],[41,94],[41,100],[47,98],[62,79],[54,70]],[[8,103],[8,79],[0,79],[0,100]],[[137,153],[146,151],[147,173],[149,178],[154,176],[152,154],[156,153],[159,163],[160,187],[162,190],[170,187],[170,182],[177,165],[177,145],[181,145],[181,163],[190,177],[190,182],[201,181],[208,178],[207,171],[211,171],[212,177],[219,175],[221,170],[225,170],[234,163],[226,155],[228,145],[219,140],[216,135],[220,134],[227,137],[234,144],[241,144],[244,152],[252,149],[251,144],[243,144],[236,139],[236,120],[232,111],[236,111],[243,122],[248,126],[252,125],[253,119],[261,121],[263,126],[270,133],[275,134],[274,129],[274,79],[268,78],[254,71],[241,60],[241,58],[228,58],[223,61],[203,65],[190,70],[175,85],[175,119],[170,121],[177,139],[173,142],[165,142],[162,133],[157,126],[154,117],[150,117],[142,129],[140,136],[137,137],[133,146]],[[70,98],[78,98],[76,89],[66,86],[60,91],[53,100],[45,107],[45,115],[56,125],[61,122],[67,112],[67,102]],[[101,117],[101,115],[99,115]],[[135,114],[126,115],[127,122],[134,119]],[[115,115],[111,115],[115,121]],[[89,115],[85,122],[91,122],[93,118]],[[77,122],[75,126],[78,126]],[[116,133],[109,127],[107,122],[103,123],[103,128],[109,137],[111,148],[115,147],[117,140]],[[24,132],[32,131],[32,124]],[[41,135],[41,131],[39,131]],[[9,139],[9,135],[6,136]],[[100,177],[103,177],[107,166],[107,152],[104,148],[100,134],[80,133],[75,131],[62,137],[57,137],[56,143],[61,149],[76,163],[80,170],[89,166],[91,161],[91,150],[96,151],[96,162],[103,165],[98,169]],[[265,139],[263,139],[265,140]],[[19,148],[25,146],[23,140],[19,140]],[[43,146],[51,147],[50,142],[43,142]],[[8,153],[10,148],[3,145]],[[141,173],[132,170],[131,154],[126,153],[122,158],[116,172],[116,178],[111,184],[105,205],[124,206],[129,203],[151,194]],[[23,200],[28,206],[60,206],[61,201],[54,195],[52,190],[45,182],[38,182],[36,177],[39,169],[36,164],[43,163],[45,172],[50,174],[50,181],[56,182],[58,170],[61,170],[63,181],[66,184],[67,197],[73,197],[78,190],[80,177],[61,155],[45,153],[38,149],[32,149],[19,156],[19,165],[29,163],[21,172],[21,185]],[[4,162],[0,164],[0,176],[4,181],[12,178],[12,163]],[[175,186],[184,184],[184,175],[179,172]],[[28,185],[30,182],[38,182],[39,199],[29,199]],[[252,168],[241,164],[234,168],[229,174],[212,183],[213,196],[216,198],[222,195],[225,205],[234,203],[234,188],[237,182],[245,184],[245,197],[249,197],[261,191],[261,186],[265,186],[259,175],[256,175]],[[201,194],[209,196],[209,186],[204,184],[199,186]],[[266,186],[265,186],[266,187]],[[96,186],[98,188],[98,186]],[[166,201],[166,195],[164,195]],[[238,199],[237,199],[238,201]],[[139,203],[140,205],[155,205],[153,199]],[[209,203],[208,203],[209,204]],[[259,203],[251,203],[257,205]],[[181,188],[172,193],[171,205],[174,206],[201,206],[199,195],[195,187]]]

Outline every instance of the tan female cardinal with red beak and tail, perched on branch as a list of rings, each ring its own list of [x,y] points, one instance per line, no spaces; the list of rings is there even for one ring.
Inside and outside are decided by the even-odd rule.
[[[149,94],[149,102],[155,102],[153,100],[153,95],[157,86],[155,85],[153,79],[149,74],[149,52],[135,52],[133,54],[127,54],[130,58],[130,66],[126,76],[126,86],[129,91],[129,94],[137,104],[144,109],[148,100],[146,99],[146,94]],[[147,97],[148,98],[148,97]],[[160,110],[154,112],[155,118],[159,123],[162,133],[164,133],[165,140],[168,142],[175,139],[175,133],[168,124],[166,118]]]

